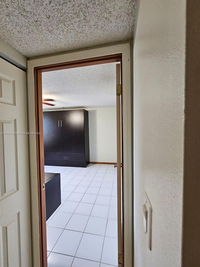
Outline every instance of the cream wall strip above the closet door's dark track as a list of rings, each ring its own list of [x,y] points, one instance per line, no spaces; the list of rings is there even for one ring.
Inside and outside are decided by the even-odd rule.
[[[0,55],[22,69],[27,68],[27,58],[2,39],[0,39]]]

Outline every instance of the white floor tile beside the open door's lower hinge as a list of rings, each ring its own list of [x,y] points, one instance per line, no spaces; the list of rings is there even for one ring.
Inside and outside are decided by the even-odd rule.
[[[101,262],[118,266],[118,239],[117,238],[105,237]]]

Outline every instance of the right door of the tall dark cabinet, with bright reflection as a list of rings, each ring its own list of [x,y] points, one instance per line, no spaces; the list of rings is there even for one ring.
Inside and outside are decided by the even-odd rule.
[[[62,152],[84,153],[83,110],[65,110],[60,114]]]

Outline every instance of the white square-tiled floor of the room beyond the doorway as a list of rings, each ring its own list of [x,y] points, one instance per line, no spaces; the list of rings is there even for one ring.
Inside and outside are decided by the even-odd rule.
[[[117,168],[45,166],[60,173],[61,205],[47,220],[48,267],[118,266]]]

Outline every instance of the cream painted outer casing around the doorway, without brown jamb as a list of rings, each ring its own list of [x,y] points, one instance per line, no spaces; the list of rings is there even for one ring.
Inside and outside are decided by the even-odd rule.
[[[132,237],[133,237],[133,171],[132,171],[132,144],[131,139],[131,71],[130,71],[130,44],[118,44],[103,48],[78,51],[70,54],[50,56],[27,61],[28,82],[28,113],[29,131],[36,131],[35,124],[35,93],[34,67],[57,64],[62,62],[89,59],[112,54],[122,54],[123,78],[123,161],[124,161],[124,267],[132,266]],[[29,136],[30,142],[30,170],[31,170],[31,204],[32,204],[32,240],[33,266],[40,266],[39,251],[39,221],[38,221],[38,193],[37,193],[37,153],[36,136]]]

